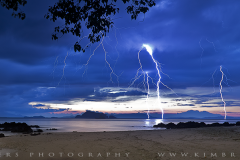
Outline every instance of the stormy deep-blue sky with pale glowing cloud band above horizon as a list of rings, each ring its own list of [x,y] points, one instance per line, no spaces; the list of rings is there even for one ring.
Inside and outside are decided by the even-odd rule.
[[[28,1],[26,19],[0,8],[0,116],[66,116],[108,113],[181,113],[188,110],[240,116],[240,1],[161,0],[131,20],[126,6],[112,18],[102,41],[74,52],[71,34],[51,39],[63,21],[44,18],[57,1]],[[80,44],[89,43],[84,28]],[[161,64],[158,74],[143,44]],[[141,50],[141,51],[140,51]],[[139,52],[140,51],[140,52]],[[147,97],[147,72],[150,94]],[[220,71],[222,66],[222,72]],[[144,77],[145,75],[145,77]],[[166,87],[168,86],[168,87]]]

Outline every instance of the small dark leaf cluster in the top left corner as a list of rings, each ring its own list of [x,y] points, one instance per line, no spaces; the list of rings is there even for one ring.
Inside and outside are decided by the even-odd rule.
[[[22,11],[19,11],[19,6],[24,6],[27,4],[26,0],[0,0],[0,3],[2,7],[8,10],[13,10],[12,16],[15,18],[18,17],[22,20],[26,18],[26,14]]]

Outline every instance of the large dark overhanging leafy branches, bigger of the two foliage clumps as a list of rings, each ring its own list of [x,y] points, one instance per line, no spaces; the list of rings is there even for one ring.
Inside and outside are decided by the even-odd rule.
[[[120,0],[124,4],[131,4],[126,8],[127,13],[131,14],[131,19],[137,19],[140,13],[146,13],[149,7],[155,5],[155,0]],[[65,21],[64,26],[55,27],[52,39],[57,40],[60,36],[72,33],[81,37],[82,25],[91,30],[88,39],[91,43],[99,42],[109,29],[113,27],[111,16],[119,12],[116,7],[117,0],[60,0],[54,6],[50,6],[45,18],[55,22],[58,18]],[[60,36],[59,36],[60,33]],[[83,51],[79,42],[74,45],[74,51]]]

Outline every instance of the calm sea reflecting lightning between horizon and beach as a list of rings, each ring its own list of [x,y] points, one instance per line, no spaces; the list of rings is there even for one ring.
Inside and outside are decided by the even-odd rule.
[[[25,122],[28,125],[38,125],[43,132],[113,132],[113,131],[137,131],[137,130],[163,130],[154,128],[158,123],[179,122],[205,122],[210,123],[236,123],[240,120],[207,120],[207,119],[77,119],[77,118],[0,118],[4,122]],[[57,130],[49,130],[55,128]],[[48,129],[48,130],[47,130]],[[4,132],[5,135],[17,133]]]

